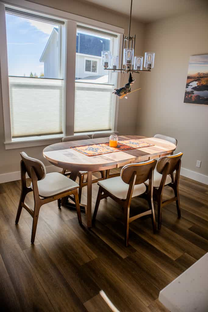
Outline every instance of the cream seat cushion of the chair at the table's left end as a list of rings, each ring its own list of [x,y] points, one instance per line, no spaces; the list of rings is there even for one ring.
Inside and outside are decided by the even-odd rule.
[[[58,172],[47,173],[44,179],[37,181],[37,186],[41,197],[49,197],[79,188],[79,184]],[[32,183],[30,187],[32,188]]]

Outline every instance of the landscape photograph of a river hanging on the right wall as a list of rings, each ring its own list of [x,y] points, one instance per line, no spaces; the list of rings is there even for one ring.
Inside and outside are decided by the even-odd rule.
[[[190,56],[184,103],[208,105],[208,54]]]

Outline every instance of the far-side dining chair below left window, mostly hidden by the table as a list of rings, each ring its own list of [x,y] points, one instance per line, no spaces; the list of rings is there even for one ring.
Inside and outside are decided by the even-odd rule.
[[[66,136],[62,138],[61,142],[71,142],[71,141],[77,141],[77,140],[89,140],[90,137],[86,134],[82,135],[71,135],[71,136]],[[105,178],[105,171],[99,171],[101,174],[101,178],[97,178],[92,180],[92,183],[97,183],[100,180],[103,180]],[[62,174],[65,176],[70,176],[70,171],[67,169],[62,169]],[[86,179],[85,179],[86,177]],[[82,188],[87,185],[87,171],[79,171],[78,173],[78,178],[79,178],[79,201],[81,202],[81,196],[82,196]]]

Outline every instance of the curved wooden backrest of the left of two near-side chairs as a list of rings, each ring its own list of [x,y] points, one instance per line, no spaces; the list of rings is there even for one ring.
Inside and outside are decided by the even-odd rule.
[[[154,170],[156,164],[156,159],[150,159],[141,163],[125,165],[121,170],[121,178],[123,182],[129,184],[133,173],[136,172],[137,177],[135,185],[144,183],[150,178],[151,171]]]

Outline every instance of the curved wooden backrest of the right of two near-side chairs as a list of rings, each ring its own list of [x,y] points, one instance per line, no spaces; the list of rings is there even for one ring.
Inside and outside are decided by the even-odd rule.
[[[165,166],[168,165],[168,171],[167,174],[173,173],[177,169],[177,165],[181,162],[181,157],[183,153],[178,153],[175,155],[168,155],[161,157],[157,162],[157,172],[161,173],[163,172]]]

